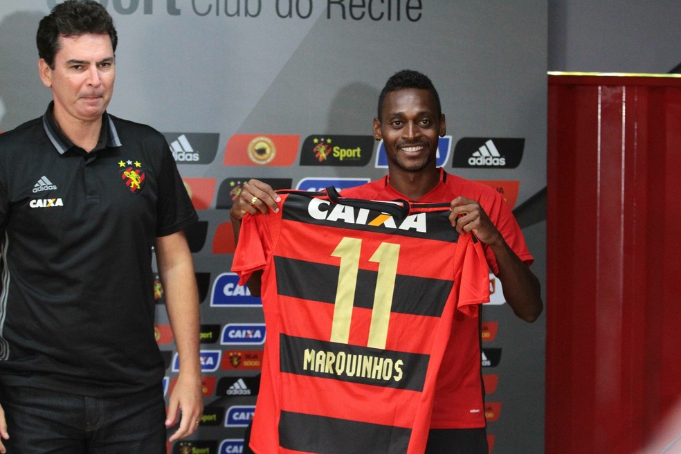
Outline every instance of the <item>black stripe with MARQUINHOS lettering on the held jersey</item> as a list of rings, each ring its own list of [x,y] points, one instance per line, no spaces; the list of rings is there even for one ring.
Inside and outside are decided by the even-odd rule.
[[[421,392],[430,356],[280,334],[280,370]]]

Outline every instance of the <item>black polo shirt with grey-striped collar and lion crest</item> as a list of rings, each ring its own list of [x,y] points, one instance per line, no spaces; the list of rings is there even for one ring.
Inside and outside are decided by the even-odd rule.
[[[0,135],[0,382],[90,396],[158,385],[152,246],[197,214],[165,138],[109,114],[86,153],[42,118]]]

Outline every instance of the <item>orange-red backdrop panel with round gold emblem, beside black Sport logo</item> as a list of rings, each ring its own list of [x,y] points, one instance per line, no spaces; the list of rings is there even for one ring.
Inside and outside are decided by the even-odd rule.
[[[225,147],[224,165],[289,166],[296,161],[300,136],[235,134]]]

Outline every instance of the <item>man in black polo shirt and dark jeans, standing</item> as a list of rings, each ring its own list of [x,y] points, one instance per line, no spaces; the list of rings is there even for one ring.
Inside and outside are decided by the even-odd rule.
[[[165,453],[201,416],[197,214],[163,136],[106,112],[116,42],[96,1],[57,5],[37,33],[53,102],[0,135],[1,453]],[[181,364],[167,414],[154,251]]]

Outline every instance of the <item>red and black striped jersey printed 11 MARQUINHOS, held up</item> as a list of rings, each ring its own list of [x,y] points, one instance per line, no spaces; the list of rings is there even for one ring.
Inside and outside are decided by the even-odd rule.
[[[241,284],[263,271],[251,448],[422,453],[452,320],[489,300],[482,245],[448,204],[279,193],[244,217],[232,266]]]

